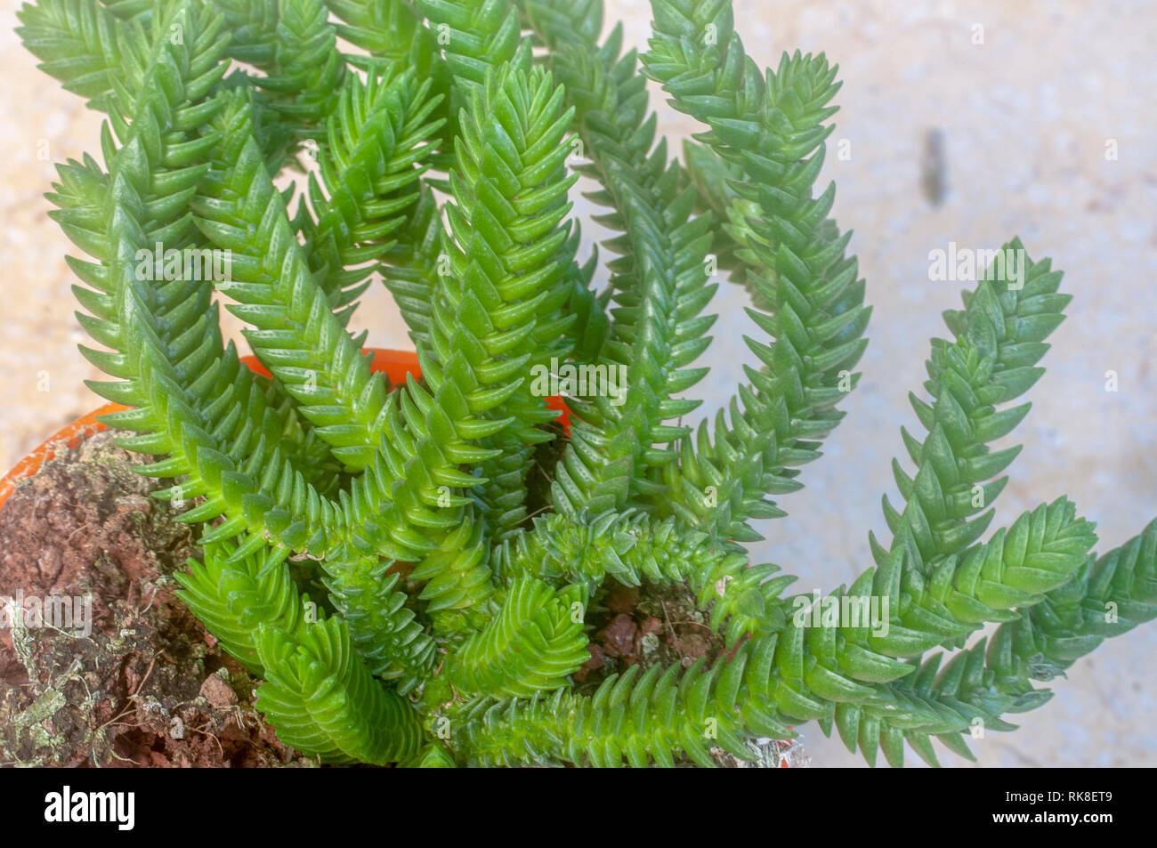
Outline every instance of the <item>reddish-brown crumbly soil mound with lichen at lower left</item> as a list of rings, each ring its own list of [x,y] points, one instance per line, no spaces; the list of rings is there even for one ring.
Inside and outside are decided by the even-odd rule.
[[[193,534],[149,496],[142,462],[110,433],[59,445],[0,508],[0,598],[91,603],[87,635],[9,604],[0,765],[315,765],[278,742],[257,681],[174,595]]]

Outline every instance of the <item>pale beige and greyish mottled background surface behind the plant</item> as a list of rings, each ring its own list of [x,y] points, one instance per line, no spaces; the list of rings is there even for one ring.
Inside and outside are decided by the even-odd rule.
[[[646,43],[644,0],[607,0],[631,44]],[[1075,295],[1051,341],[1047,376],[1018,430],[1024,452],[998,504],[998,523],[1068,493],[1097,521],[1103,550],[1157,515],[1157,7],[1111,2],[837,2],[736,0],[750,52],[774,64],[783,50],[825,51],[845,80],[825,177],[839,185],[835,214],[855,230],[853,249],[875,304],[860,389],[826,457],[805,470],[808,488],[782,504],[790,516],[766,526],[761,560],[801,575],[801,591],[831,589],[870,563],[867,531],[884,530],[879,495],[901,451],[899,426],[915,425],[906,396],[924,377],[927,339],[943,334],[939,312],[958,305],[952,282],[930,282],[928,253],[950,241],[996,248],[1020,235],[1033,258],[1051,256]],[[97,374],[76,353],[67,244],[42,198],[51,162],[96,152],[98,118],[35,69],[12,32],[13,0],[0,2],[0,466],[91,410],[81,381]],[[975,44],[977,27],[983,44]],[[659,99],[661,130],[694,131]],[[933,208],[920,190],[927,131],[946,141],[949,193]],[[1106,158],[1115,140],[1118,156]],[[678,149],[678,146],[675,147]],[[580,202],[580,212],[589,205]],[[597,237],[595,228],[588,236]],[[751,361],[742,333],[756,331],[742,293],[727,287],[697,389],[706,411],[725,403]],[[405,327],[381,287],[355,323],[370,344],[407,346]],[[758,331],[756,331],[758,332]],[[1118,375],[1107,392],[1106,373]],[[1081,662],[1056,696],[1022,717],[1012,735],[974,743],[983,766],[1157,764],[1157,625],[1103,646]],[[861,765],[815,725],[805,729],[815,766]],[[944,754],[951,765],[965,765]],[[909,761],[918,761],[914,757]]]

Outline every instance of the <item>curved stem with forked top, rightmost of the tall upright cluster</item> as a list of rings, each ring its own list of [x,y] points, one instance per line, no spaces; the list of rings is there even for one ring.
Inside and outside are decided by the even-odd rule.
[[[839,86],[823,56],[784,54],[765,76],[744,52],[728,2],[656,0],[653,10],[646,72],[676,109],[710,127],[699,138],[723,162],[708,197],[727,205],[732,223],[718,230],[731,239],[721,252],[743,263],[757,295],[749,315],[772,339],[747,339],[762,368],[746,369],[751,384],[713,433],[705,423],[681,442],[664,479],[676,514],[753,540],[747,519],[782,515],[766,495],[799,487],[795,466],[819,455],[819,440],[842,418],[834,407],[854,386],[850,369],[865,345],[870,310],[856,261],[845,257],[850,234],[828,219],[834,186],[812,197]]]

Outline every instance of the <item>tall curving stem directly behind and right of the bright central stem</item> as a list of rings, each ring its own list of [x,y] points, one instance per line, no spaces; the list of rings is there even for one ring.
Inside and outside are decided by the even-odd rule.
[[[673,456],[654,445],[685,435],[664,422],[698,406],[677,396],[706,374],[686,366],[709,344],[703,333],[714,322],[701,315],[716,288],[705,261],[710,219],[693,215],[694,187],[668,161],[665,141],[655,143],[638,57],[620,56],[621,28],[599,46],[598,7],[552,1],[524,8],[539,37],[555,47],[548,64],[576,110],[590,158],[577,170],[602,186],[590,199],[612,209],[598,221],[622,233],[606,245],[619,255],[609,265],[617,308],[597,360],[618,369],[614,391],[607,384],[595,397],[575,399],[580,420],[553,488],[557,509],[600,513],[661,491],[649,472]]]

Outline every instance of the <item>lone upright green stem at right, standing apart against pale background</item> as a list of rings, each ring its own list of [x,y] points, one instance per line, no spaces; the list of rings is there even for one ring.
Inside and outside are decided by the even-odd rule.
[[[1030,404],[1004,406],[1044,374],[1037,362],[1044,339],[1063,320],[1071,300],[1057,288],[1061,273],[1045,259],[1033,263],[1019,239],[997,251],[998,261],[980,271],[975,289],[964,293],[965,309],[945,314],[956,339],[933,341],[924,386],[931,403],[911,396],[923,442],[901,430],[915,474],[893,463],[902,510],[884,499],[894,534],[891,550],[906,546],[922,568],[971,544],[988,525],[992,502],[1004,488],[997,477],[1019,447],[993,452],[988,442],[1008,435]],[[996,479],[994,479],[996,478]],[[975,517],[982,510],[983,515]],[[872,539],[877,559],[884,548]]]

